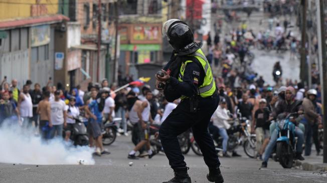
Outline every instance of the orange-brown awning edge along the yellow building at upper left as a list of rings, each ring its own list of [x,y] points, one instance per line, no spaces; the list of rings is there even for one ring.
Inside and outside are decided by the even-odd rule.
[[[0,29],[11,29],[15,27],[26,27],[26,26],[34,26],[39,24],[51,24],[61,22],[63,20],[69,20],[69,17],[64,16],[62,14],[55,14],[49,16],[38,16],[38,17],[29,17],[24,19],[13,19],[13,20],[5,20],[0,21]]]

